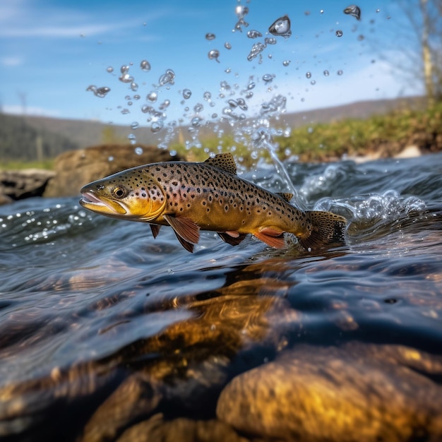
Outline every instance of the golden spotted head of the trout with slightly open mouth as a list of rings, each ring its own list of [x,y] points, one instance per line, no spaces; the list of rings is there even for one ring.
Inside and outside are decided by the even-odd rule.
[[[166,206],[162,186],[143,166],[93,181],[81,189],[80,205],[109,217],[155,220]]]

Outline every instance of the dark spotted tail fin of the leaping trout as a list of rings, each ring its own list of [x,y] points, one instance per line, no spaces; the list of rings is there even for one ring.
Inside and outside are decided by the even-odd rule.
[[[311,219],[311,233],[307,238],[298,238],[305,249],[318,249],[331,245],[345,245],[345,217],[331,212],[306,212]]]

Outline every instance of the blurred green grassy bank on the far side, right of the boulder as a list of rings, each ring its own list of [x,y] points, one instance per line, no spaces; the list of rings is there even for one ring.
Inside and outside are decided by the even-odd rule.
[[[292,129],[288,137],[277,137],[277,152],[281,159],[297,155],[301,161],[339,160],[342,155],[367,155],[380,153],[389,157],[409,145],[421,150],[437,152],[442,150],[442,102],[425,110],[398,109],[388,114],[375,115],[368,119],[342,119],[328,124],[318,123]],[[186,150],[183,145],[173,145],[184,156],[191,153],[192,160],[203,161],[208,152],[217,153],[217,146],[235,155],[250,155],[246,143],[237,143],[232,136],[203,140],[204,149]],[[261,152],[260,152],[261,155]],[[244,164],[244,163],[243,163]]]

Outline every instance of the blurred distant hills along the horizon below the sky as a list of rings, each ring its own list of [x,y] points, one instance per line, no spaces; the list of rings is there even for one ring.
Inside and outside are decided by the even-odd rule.
[[[342,106],[316,109],[306,112],[282,114],[276,126],[296,128],[312,123],[328,123],[348,117],[366,119],[374,114],[386,114],[403,107],[424,107],[422,97],[395,100],[355,102]],[[227,122],[219,124],[229,133]],[[201,127],[200,139],[213,136],[213,124]],[[187,133],[186,128],[182,128]],[[179,130],[174,143],[179,142]],[[0,167],[8,160],[42,160],[55,157],[66,150],[85,148],[101,143],[127,143],[130,133],[135,133],[139,143],[155,145],[158,134],[140,127],[134,132],[129,126],[103,124],[100,121],[55,119],[49,117],[17,116],[0,114]],[[182,142],[182,139],[181,139]]]

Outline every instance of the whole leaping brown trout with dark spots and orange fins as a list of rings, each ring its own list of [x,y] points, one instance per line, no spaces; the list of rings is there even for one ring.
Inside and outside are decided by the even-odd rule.
[[[305,249],[345,244],[346,220],[330,212],[303,212],[289,193],[271,193],[237,176],[231,154],[205,162],[159,162],[124,170],[81,189],[80,205],[93,212],[174,229],[188,251],[199,231],[211,230],[237,245],[252,234],[271,247],[285,247],[284,232]]]

